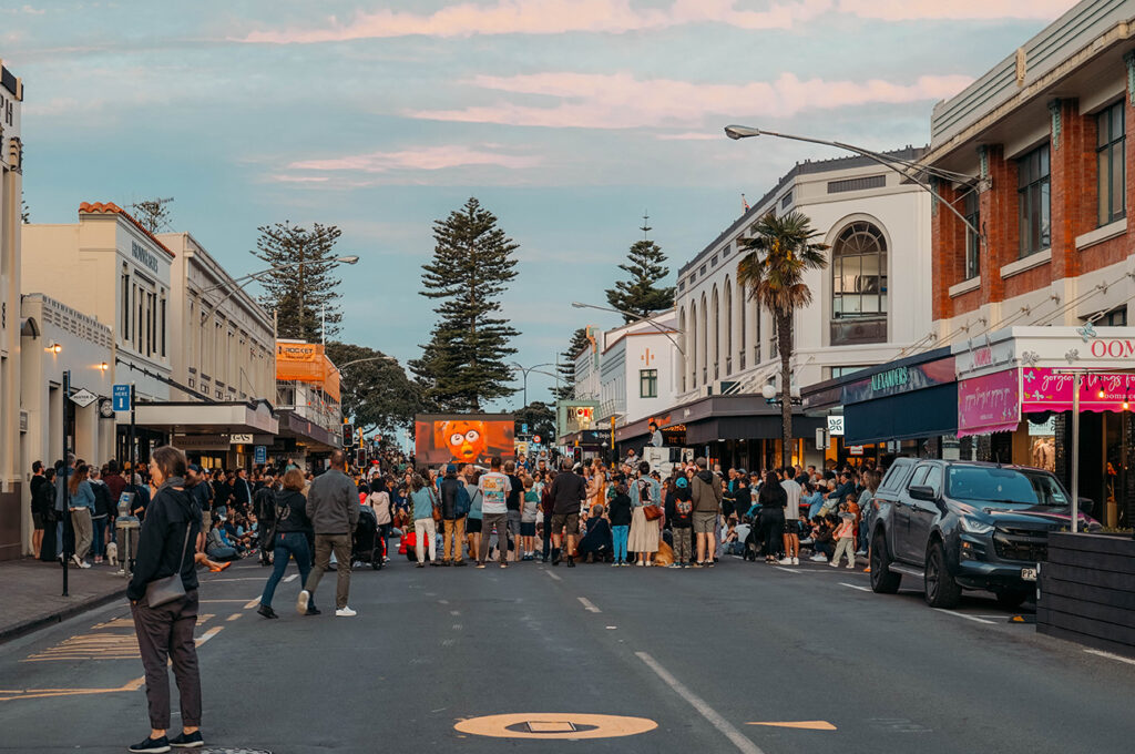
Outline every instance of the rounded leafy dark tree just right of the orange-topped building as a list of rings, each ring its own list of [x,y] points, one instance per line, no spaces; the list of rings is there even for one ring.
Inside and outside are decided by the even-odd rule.
[[[327,357],[340,371],[343,416],[364,434],[413,428],[414,414],[422,411],[421,394],[396,361],[375,349],[338,342],[327,344]]]

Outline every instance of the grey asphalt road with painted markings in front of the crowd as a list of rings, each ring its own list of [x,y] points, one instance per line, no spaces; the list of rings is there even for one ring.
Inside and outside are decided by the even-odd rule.
[[[860,570],[732,558],[684,571],[418,570],[396,558],[354,575],[356,618],[297,615],[293,579],[277,592],[275,621],[254,612],[264,578],[254,563],[203,576],[207,748],[1135,747],[1135,664],[1037,636],[1008,622],[992,598],[942,612],[914,592],[874,595]],[[320,586],[320,608],[331,606],[334,580]],[[132,637],[125,605],[110,605],[0,645],[0,751],[120,752],[141,739],[148,723]],[[476,719],[503,714],[516,717],[496,730],[529,738],[485,736],[491,721]],[[630,735],[570,739],[619,732]]]

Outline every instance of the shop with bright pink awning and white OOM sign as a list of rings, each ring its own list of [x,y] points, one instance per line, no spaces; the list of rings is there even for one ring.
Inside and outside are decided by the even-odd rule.
[[[1105,526],[1135,522],[1135,328],[1010,328],[955,355],[973,456],[1049,469],[1069,487],[1078,377],[1079,494]]]

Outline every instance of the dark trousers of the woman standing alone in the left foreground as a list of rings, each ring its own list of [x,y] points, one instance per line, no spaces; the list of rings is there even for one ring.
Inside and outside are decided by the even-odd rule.
[[[173,661],[177,694],[180,697],[182,726],[201,726],[201,675],[193,627],[197,622],[197,590],[180,600],[151,608],[145,597],[131,604],[138,652],[145,668],[145,697],[150,705],[150,727],[169,728],[169,672]]]

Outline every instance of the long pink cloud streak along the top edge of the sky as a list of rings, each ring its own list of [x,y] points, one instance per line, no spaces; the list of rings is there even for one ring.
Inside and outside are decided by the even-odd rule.
[[[631,0],[466,1],[430,14],[381,9],[358,12],[346,22],[333,16],[323,27],[260,30],[241,41],[313,44],[413,35],[621,34],[699,23],[787,30],[830,12],[885,20],[1053,18],[1067,9],[1067,3],[1068,0],[773,0],[762,10],[742,10],[738,0],[674,0],[658,8],[634,7]]]

